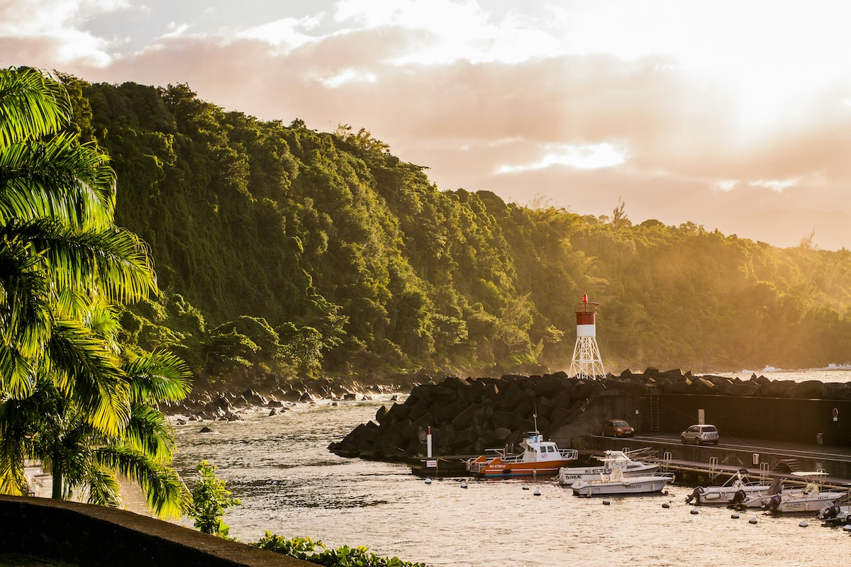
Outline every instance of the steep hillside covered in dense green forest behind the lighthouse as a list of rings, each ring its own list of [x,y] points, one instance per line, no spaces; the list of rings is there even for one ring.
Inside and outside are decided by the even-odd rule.
[[[851,361],[847,250],[438,190],[366,130],[63,78],[163,290],[124,339],[208,377],[567,369],[583,293],[608,371]]]

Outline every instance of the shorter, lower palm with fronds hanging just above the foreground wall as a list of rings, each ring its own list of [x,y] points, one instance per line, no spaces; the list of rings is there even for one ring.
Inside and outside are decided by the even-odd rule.
[[[54,380],[42,376],[31,396],[0,403],[0,439],[15,468],[26,459],[42,462],[53,480],[53,497],[122,506],[119,478],[135,481],[148,506],[163,517],[179,517],[191,496],[169,468],[174,431],[153,404],[181,400],[189,391],[189,370],[174,354],[145,354],[123,365],[131,412],[117,434],[94,428],[87,410],[66,398]]]

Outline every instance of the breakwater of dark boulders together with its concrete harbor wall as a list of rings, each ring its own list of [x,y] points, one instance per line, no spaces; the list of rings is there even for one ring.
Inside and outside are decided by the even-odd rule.
[[[599,434],[604,419],[625,418],[639,433],[679,431],[697,422],[701,411],[722,434],[851,444],[849,383],[648,368],[601,380],[563,372],[446,377],[415,386],[403,403],[382,406],[374,421],[358,425],[329,449],[341,456],[403,460],[424,454],[431,428],[435,456],[473,455],[517,446],[535,422],[559,445],[579,446],[583,435]]]

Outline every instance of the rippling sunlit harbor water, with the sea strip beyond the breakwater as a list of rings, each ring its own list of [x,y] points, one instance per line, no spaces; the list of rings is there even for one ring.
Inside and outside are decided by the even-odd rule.
[[[773,379],[851,382],[851,370],[757,372]],[[782,376],[780,376],[782,375]],[[748,377],[744,372],[738,375]],[[818,376],[818,377],[813,377]],[[369,547],[433,567],[511,565],[831,565],[848,564],[851,533],[814,514],[731,517],[725,507],[692,507],[692,487],[667,494],[582,498],[552,479],[434,479],[407,466],[336,456],[331,441],[374,419],[391,401],[297,405],[237,422],[175,425],[174,465],[187,480],[214,464],[242,505],[226,511],[231,536],[257,541],[268,530],[309,536],[328,547]],[[212,433],[200,433],[203,426]],[[527,485],[530,490],[523,490]],[[540,496],[535,491],[540,490]],[[607,503],[604,503],[604,500]],[[663,507],[669,504],[670,507]],[[756,523],[752,523],[756,519]],[[801,522],[808,522],[802,527]],[[190,520],[180,520],[191,525]]]

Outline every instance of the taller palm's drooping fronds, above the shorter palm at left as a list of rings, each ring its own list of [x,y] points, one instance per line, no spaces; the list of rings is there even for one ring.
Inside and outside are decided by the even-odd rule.
[[[70,109],[41,71],[0,71],[0,394],[31,395],[49,368],[94,427],[116,434],[129,419],[120,360],[74,302],[135,301],[156,292],[156,276],[144,242],[112,224],[108,156],[60,132]]]

